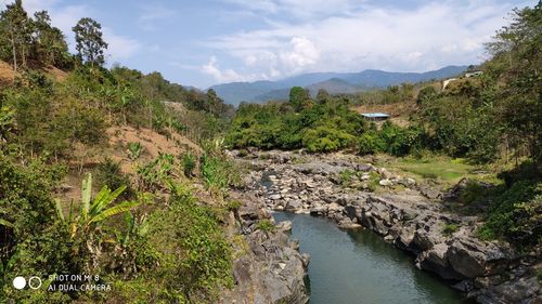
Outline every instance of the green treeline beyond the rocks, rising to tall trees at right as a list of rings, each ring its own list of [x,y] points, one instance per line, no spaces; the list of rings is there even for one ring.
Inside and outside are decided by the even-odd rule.
[[[487,45],[492,58],[479,77],[450,83],[444,91],[412,84],[348,98],[321,91],[317,98],[293,88],[288,103],[241,105],[228,143],[235,148],[344,148],[360,154],[404,156],[423,149],[487,163],[531,158],[542,162],[541,4],[514,11],[514,22]],[[412,100],[417,110],[409,127],[386,122],[379,130],[349,104],[393,104]]]

